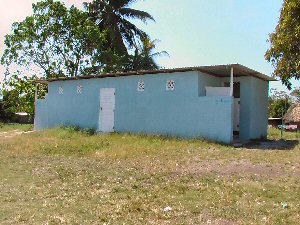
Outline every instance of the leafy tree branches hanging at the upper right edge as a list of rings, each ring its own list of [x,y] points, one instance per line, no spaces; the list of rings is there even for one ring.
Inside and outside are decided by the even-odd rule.
[[[274,75],[291,89],[291,78],[300,78],[300,1],[284,0],[279,23],[270,34],[271,47],[265,58],[272,63]]]

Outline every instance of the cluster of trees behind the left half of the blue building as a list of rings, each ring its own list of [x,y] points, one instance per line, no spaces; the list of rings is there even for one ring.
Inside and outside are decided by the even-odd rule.
[[[158,69],[155,42],[131,21],[153,20],[130,8],[135,0],[94,0],[85,11],[57,0],[33,4],[33,15],[12,25],[1,64],[17,65],[2,82],[3,107],[33,115],[38,76],[51,78],[129,70]],[[31,69],[33,68],[33,69]],[[16,71],[15,71],[16,72]],[[3,110],[2,110],[3,111]]]

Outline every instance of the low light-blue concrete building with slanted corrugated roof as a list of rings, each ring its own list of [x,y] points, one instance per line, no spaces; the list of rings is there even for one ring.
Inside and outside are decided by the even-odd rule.
[[[231,143],[267,137],[274,79],[240,64],[55,78],[36,130],[61,125]]]

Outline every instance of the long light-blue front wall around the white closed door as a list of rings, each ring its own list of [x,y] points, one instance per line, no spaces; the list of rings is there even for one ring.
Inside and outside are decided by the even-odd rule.
[[[175,81],[174,91],[166,91],[167,80]],[[144,92],[137,91],[138,81],[145,82]],[[115,131],[230,143],[232,97],[205,96],[205,86],[221,86],[221,81],[195,71],[50,82],[47,98],[36,101],[35,129],[60,125],[98,129],[100,88],[115,88]],[[77,85],[83,86],[82,94]]]

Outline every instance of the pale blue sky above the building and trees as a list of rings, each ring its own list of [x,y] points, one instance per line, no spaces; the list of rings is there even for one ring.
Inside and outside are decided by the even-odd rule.
[[[31,14],[34,0],[1,0],[0,54],[4,35],[13,21]],[[81,5],[81,0],[64,0]],[[264,53],[268,35],[274,31],[282,0],[144,0],[133,8],[149,12],[156,22],[137,23],[152,39],[159,39],[157,51],[170,57],[157,58],[166,68],[240,63],[267,75],[271,65]],[[0,67],[0,78],[4,68]],[[293,82],[300,86],[300,82]],[[271,87],[284,89],[280,82]]]

